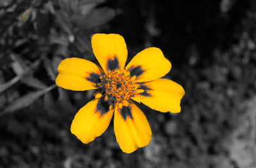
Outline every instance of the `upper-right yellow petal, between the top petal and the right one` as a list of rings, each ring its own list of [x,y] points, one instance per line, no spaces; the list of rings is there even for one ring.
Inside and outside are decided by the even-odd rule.
[[[136,75],[136,82],[148,82],[159,79],[170,72],[171,68],[170,61],[156,47],[142,50],[125,67],[132,76]]]

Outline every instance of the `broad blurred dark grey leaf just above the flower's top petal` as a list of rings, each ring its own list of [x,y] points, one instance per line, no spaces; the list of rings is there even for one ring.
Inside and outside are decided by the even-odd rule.
[[[79,28],[92,29],[93,27],[101,26],[106,24],[109,20],[115,17],[115,11],[110,8],[97,8],[92,11],[92,13],[77,18],[76,22],[79,24]]]

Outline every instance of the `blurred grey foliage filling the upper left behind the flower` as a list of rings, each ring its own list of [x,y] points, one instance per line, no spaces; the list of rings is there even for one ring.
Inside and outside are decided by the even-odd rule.
[[[55,88],[60,61],[72,56],[94,59],[90,36],[116,15],[111,8],[97,8],[103,2],[0,2],[0,94],[6,97],[12,91],[16,95],[12,101],[3,98],[6,101],[1,103],[0,115],[27,107],[42,95],[45,108],[51,107],[49,100],[53,98],[49,91]],[[69,101],[61,89],[58,91],[59,99]]]

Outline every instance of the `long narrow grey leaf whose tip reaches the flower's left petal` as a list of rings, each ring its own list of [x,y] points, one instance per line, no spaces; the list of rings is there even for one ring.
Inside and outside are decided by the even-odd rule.
[[[55,87],[56,87],[56,85],[54,84],[54,85],[52,85],[49,88],[46,88],[44,90],[34,91],[34,92],[31,92],[31,93],[28,93],[25,96],[22,96],[21,98],[18,98],[17,100],[12,102],[10,105],[8,105],[8,107],[6,107],[4,109],[4,112],[1,112],[0,115],[6,114],[7,112],[17,111],[17,110],[20,110],[24,107],[28,107],[29,105],[31,105],[31,103],[35,102],[35,100],[40,98],[40,96],[42,96],[45,93],[51,91]]]

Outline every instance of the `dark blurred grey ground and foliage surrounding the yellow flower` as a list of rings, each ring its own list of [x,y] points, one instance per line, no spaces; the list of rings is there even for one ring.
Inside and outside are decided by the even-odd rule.
[[[0,167],[256,167],[255,1],[0,1]],[[113,121],[81,143],[70,133],[91,91],[54,88],[65,57],[97,63],[94,33],[119,33],[128,61],[159,47],[179,114],[138,105],[152,141],[122,153]],[[157,61],[157,60],[156,60]]]

